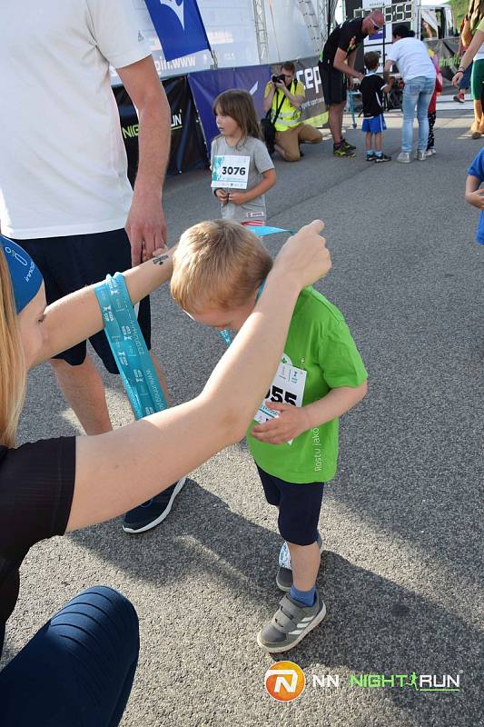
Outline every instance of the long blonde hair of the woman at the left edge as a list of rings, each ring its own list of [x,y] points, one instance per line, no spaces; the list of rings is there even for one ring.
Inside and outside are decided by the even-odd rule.
[[[13,447],[25,400],[26,373],[12,280],[3,251],[0,252],[0,297],[0,444]]]

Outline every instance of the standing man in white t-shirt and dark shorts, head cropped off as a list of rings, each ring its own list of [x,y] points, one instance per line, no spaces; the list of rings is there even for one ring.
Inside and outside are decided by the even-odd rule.
[[[110,65],[140,120],[134,191]],[[0,68],[0,224],[41,269],[47,303],[139,264],[163,246],[171,113],[133,0],[2,3]],[[148,298],[138,320],[150,348]],[[106,369],[118,373],[104,333],[91,343]],[[110,431],[103,380],[85,342],[52,364],[85,432]],[[128,513],[124,529],[139,532],[161,522],[181,486],[139,516]]]

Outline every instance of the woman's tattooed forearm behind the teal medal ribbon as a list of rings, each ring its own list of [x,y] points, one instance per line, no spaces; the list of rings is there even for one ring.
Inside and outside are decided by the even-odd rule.
[[[133,304],[170,280],[173,272],[173,251],[174,247],[123,273]],[[93,285],[65,295],[52,305],[47,305],[44,315],[45,344],[34,365],[42,364],[55,354],[66,351],[80,341],[85,341],[104,328],[103,316]]]

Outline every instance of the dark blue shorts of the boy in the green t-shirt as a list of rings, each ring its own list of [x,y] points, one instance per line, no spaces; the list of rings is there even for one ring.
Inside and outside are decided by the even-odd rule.
[[[279,532],[295,545],[311,545],[318,540],[324,483],[286,483],[257,467],[270,505],[279,507]]]

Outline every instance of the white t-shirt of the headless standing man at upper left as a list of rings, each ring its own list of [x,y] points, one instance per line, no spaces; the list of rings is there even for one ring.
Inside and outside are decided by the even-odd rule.
[[[124,226],[133,192],[109,65],[150,55],[132,0],[0,10],[0,224],[20,239]]]

